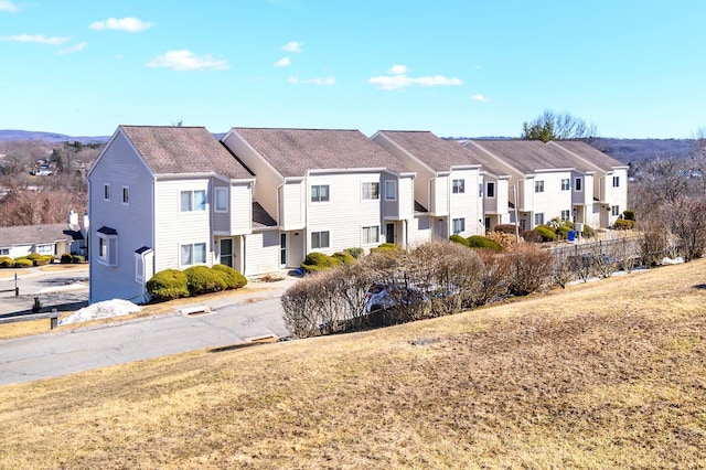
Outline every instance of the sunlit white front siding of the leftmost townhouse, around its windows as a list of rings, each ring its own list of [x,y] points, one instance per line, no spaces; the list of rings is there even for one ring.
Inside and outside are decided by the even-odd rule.
[[[206,265],[213,264],[211,235],[211,204],[205,211],[181,212],[181,191],[206,190],[208,179],[159,181],[156,185],[156,232],[158,250],[154,256],[157,271],[167,268],[183,269],[180,249],[184,244],[206,244]],[[206,196],[206,201],[211,197]]]

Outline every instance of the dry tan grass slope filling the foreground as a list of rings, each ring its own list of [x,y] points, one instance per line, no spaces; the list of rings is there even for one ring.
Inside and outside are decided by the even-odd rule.
[[[0,388],[1,468],[699,468],[706,260]]]

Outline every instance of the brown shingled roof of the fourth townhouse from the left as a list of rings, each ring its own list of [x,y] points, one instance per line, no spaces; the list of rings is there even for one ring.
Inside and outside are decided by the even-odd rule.
[[[579,159],[539,140],[480,139],[472,142],[525,174],[563,168],[574,168],[578,171],[591,170]]]

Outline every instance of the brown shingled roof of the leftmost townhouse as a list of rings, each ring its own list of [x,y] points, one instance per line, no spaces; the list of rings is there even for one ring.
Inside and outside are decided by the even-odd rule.
[[[253,174],[205,127],[120,126],[156,174],[210,173],[231,179]]]

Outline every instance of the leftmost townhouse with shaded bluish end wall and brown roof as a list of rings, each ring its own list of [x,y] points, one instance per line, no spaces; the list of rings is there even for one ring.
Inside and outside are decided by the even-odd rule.
[[[205,128],[120,126],[87,180],[90,302],[142,301],[168,268],[242,268],[254,177]]]

